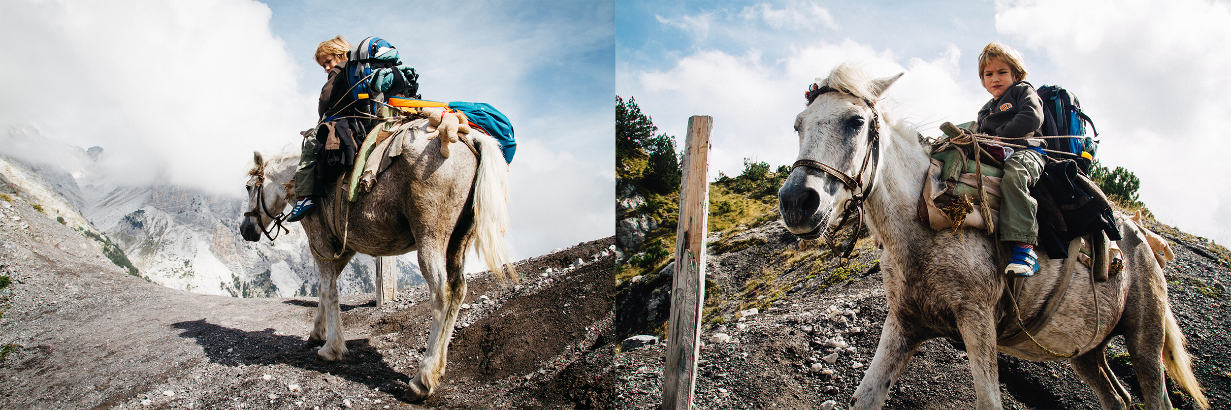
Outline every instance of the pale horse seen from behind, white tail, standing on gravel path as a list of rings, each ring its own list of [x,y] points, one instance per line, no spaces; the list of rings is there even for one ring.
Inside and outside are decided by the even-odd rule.
[[[458,308],[465,297],[465,252],[474,244],[497,277],[502,267],[516,278],[502,239],[508,225],[505,206],[506,166],[499,144],[491,137],[471,132],[469,149],[453,149],[443,158],[439,142],[428,139],[427,122],[419,121],[403,134],[401,155],[393,158],[371,192],[339,208],[335,188],[316,204],[316,212],[302,220],[308,246],[320,271],[320,302],[308,344],[324,345],[318,363],[330,363],[346,355],[337,307],[337,276],[356,252],[391,256],[419,250],[419,267],[432,300],[432,330],[419,374],[405,398],[426,399],[441,383],[448,341]],[[390,137],[393,138],[393,137]],[[396,139],[395,139],[396,142]],[[379,155],[372,160],[379,161]],[[298,155],[265,161],[254,153],[249,172],[249,209],[240,225],[244,239],[256,241],[268,235],[276,215],[282,214],[293,192]],[[281,224],[281,220],[277,222]],[[343,233],[342,230],[347,230]]]

